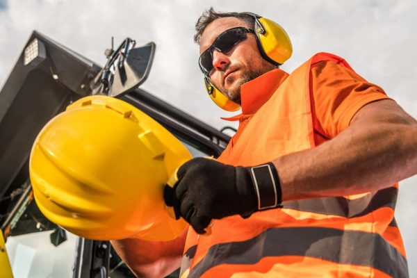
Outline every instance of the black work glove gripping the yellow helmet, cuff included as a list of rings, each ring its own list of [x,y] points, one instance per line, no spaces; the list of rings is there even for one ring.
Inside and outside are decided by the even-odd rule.
[[[209,158],[193,158],[179,167],[174,187],[165,186],[167,206],[184,218],[199,234],[212,219],[255,211],[281,204],[281,186],[272,163],[234,167]]]

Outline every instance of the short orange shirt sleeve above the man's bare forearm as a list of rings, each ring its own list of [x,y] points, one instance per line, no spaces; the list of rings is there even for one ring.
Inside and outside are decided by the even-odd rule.
[[[332,61],[312,65],[309,85],[314,129],[327,138],[346,129],[366,104],[389,99],[382,88]]]

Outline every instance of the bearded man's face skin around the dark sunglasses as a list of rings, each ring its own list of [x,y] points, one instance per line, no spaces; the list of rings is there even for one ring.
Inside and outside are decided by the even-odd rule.
[[[246,22],[236,17],[215,19],[208,24],[200,39],[199,53],[213,44],[224,31],[234,27],[247,27]],[[262,58],[256,45],[255,34],[248,33],[247,39],[239,42],[227,53],[213,51],[213,67],[210,73],[211,82],[229,99],[240,104],[240,86],[247,81],[276,68]]]

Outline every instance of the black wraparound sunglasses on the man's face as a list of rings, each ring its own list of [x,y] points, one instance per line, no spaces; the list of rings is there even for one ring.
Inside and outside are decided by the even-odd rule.
[[[235,27],[229,30],[224,31],[214,40],[213,44],[211,44],[208,49],[206,49],[202,55],[200,55],[198,59],[198,64],[200,70],[202,70],[205,76],[210,74],[211,70],[213,70],[213,51],[217,50],[222,53],[227,53],[231,51],[231,49],[246,40],[247,33],[255,33],[252,29],[246,27]]]

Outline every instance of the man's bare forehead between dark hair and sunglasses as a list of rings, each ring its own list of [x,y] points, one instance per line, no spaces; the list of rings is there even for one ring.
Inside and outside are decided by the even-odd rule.
[[[213,22],[211,22],[211,24],[207,25],[207,27],[204,29],[204,32],[202,33],[199,47],[200,54],[202,54],[204,50],[211,46],[218,35],[230,28],[240,26],[250,27],[248,26],[247,22],[243,21],[243,19],[238,19],[237,17],[222,17],[215,19]]]

